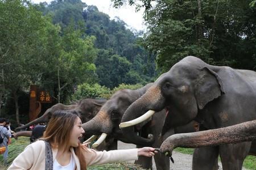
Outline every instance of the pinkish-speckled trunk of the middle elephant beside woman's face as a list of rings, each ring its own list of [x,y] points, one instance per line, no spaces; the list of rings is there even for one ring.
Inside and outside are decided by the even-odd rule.
[[[85,130],[86,134],[110,134],[113,125],[108,115],[104,111],[100,111],[92,120],[82,124],[82,128]]]

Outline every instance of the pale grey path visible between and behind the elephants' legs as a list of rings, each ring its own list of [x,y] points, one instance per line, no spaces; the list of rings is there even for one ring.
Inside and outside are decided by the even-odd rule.
[[[118,141],[118,149],[128,149],[128,148],[135,148],[135,145],[130,143],[123,143]],[[180,152],[172,152],[172,158],[174,158],[175,163],[170,163],[170,170],[190,170],[192,169],[192,155],[188,154],[181,154]],[[130,162],[133,163],[133,162]],[[222,170],[222,165],[218,163],[219,169]],[[153,169],[156,170],[155,161],[153,159]],[[242,168],[242,170],[246,170]]]

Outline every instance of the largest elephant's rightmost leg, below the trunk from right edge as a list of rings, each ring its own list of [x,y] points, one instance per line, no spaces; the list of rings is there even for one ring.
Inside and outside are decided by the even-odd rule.
[[[250,147],[251,142],[221,145],[219,152],[223,169],[242,169],[243,160],[249,153]]]

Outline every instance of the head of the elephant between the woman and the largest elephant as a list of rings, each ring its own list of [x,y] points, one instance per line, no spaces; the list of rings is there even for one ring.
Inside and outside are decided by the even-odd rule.
[[[92,135],[104,134],[103,139],[99,139],[100,142],[104,141],[106,135],[112,135],[112,137],[118,138],[121,141],[128,142],[125,138],[122,138],[118,127],[122,115],[129,105],[141,97],[151,85],[152,83],[137,90],[125,89],[115,92],[92,120],[82,124],[85,133]],[[145,141],[152,141],[152,139],[144,139]],[[94,146],[96,147],[96,145],[98,145],[97,142]]]

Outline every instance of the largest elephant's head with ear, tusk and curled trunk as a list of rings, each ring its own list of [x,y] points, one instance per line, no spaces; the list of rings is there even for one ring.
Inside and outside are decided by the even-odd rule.
[[[168,115],[163,135],[168,129],[191,122],[205,105],[222,94],[222,80],[214,67],[199,58],[189,56],[172,66],[167,73],[160,75],[146,93],[130,105],[123,114],[120,128],[123,134],[134,137],[134,142],[143,141],[143,138],[133,133],[133,127],[127,126],[134,125],[134,121],[140,122],[137,117],[147,111],[154,114],[155,111],[165,108]],[[145,115],[143,117],[147,118]],[[135,118],[137,119],[134,120]]]

